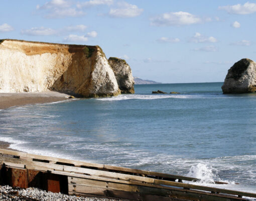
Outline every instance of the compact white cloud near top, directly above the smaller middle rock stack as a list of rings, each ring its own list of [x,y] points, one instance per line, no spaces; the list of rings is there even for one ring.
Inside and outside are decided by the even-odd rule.
[[[118,8],[111,8],[109,16],[112,17],[136,17],[143,12],[142,8],[127,2],[118,3]]]

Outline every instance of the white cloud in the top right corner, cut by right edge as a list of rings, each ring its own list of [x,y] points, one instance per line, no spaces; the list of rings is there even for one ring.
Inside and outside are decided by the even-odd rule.
[[[230,14],[250,14],[256,12],[256,3],[246,2],[243,5],[225,5],[219,6],[219,9],[226,10]]]

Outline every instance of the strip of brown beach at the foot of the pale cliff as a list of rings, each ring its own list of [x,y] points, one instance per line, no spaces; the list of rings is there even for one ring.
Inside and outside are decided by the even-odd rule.
[[[0,93],[0,109],[25,104],[36,104],[67,100],[68,94],[56,91]]]

